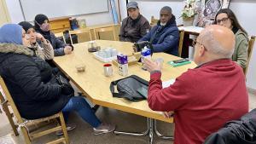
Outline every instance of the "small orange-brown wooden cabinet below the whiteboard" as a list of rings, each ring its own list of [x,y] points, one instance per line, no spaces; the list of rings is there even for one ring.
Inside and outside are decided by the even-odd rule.
[[[49,19],[49,30],[54,33],[70,30],[69,17]]]

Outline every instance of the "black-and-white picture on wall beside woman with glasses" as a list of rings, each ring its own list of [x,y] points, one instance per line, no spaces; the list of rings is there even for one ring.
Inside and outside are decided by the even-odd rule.
[[[229,8],[230,0],[201,0],[196,26],[211,25],[219,9]]]

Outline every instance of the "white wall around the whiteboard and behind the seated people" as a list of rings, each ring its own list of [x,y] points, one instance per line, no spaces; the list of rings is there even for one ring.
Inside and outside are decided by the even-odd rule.
[[[20,9],[19,0],[6,0],[7,7],[9,9],[9,14],[13,23],[18,23],[23,19],[23,15]],[[125,0],[119,0],[120,3],[120,13],[121,18],[126,17],[126,5]],[[151,16],[159,17],[160,8],[163,6],[170,6],[172,8],[173,14],[176,15],[177,24],[181,24],[182,20],[179,19],[181,9],[183,8],[183,0],[137,0],[141,14],[143,14],[148,20]],[[36,9],[36,7],[35,7]],[[256,0],[231,0],[230,9],[232,9],[241,22],[243,26],[250,35],[256,35]],[[81,17],[86,20],[88,26],[90,25],[100,25],[113,23],[113,18],[111,16],[111,11],[107,13],[99,14],[82,14],[75,15],[74,17]],[[247,86],[256,89],[256,43],[254,45],[253,56],[250,61],[250,66],[247,72]]]

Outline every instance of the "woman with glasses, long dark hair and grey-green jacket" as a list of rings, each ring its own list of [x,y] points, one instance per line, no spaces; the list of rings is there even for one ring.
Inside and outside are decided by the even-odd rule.
[[[232,55],[232,60],[242,68],[247,66],[247,50],[248,50],[248,36],[247,32],[241,27],[236,15],[231,9],[220,9],[215,16],[214,24],[230,28],[236,37],[235,51]]]

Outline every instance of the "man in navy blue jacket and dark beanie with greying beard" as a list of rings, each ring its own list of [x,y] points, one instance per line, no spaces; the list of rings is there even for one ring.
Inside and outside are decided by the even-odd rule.
[[[165,52],[177,55],[179,33],[176,25],[176,18],[172,9],[168,6],[160,10],[160,20],[147,35],[138,42],[148,41],[153,45],[153,52]]]

